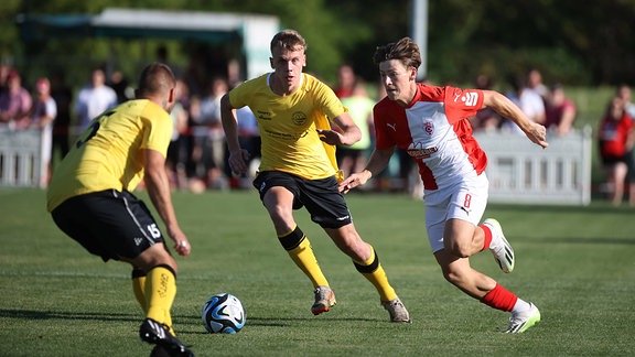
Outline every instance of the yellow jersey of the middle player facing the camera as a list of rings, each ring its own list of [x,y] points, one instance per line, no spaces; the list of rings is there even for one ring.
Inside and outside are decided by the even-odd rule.
[[[308,180],[337,173],[335,148],[323,143],[316,129],[331,129],[330,119],[346,108],[333,90],[315,77],[303,74],[298,90],[275,94],[270,74],[247,80],[229,93],[235,108],[248,106],[258,119],[261,138],[259,171],[283,171]]]

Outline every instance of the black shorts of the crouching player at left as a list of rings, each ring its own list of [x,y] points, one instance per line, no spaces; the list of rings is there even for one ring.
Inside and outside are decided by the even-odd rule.
[[[146,204],[126,191],[75,196],[51,215],[62,231],[104,261],[132,259],[155,244],[164,245]]]

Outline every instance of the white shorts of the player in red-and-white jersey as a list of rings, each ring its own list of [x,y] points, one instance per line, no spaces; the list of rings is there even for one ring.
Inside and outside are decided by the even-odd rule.
[[[426,229],[433,253],[444,248],[443,230],[448,219],[463,219],[474,226],[481,223],[487,206],[488,187],[489,181],[483,172],[450,188],[426,191]]]

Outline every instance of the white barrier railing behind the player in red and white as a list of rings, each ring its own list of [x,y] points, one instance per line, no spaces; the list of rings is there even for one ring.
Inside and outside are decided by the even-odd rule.
[[[591,129],[548,136],[541,149],[526,137],[475,134],[488,158],[489,202],[588,205],[591,202]]]

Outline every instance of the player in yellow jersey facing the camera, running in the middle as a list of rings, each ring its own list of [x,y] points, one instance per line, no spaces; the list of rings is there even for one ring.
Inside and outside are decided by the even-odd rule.
[[[313,283],[313,314],[327,312],[335,295],[320,269],[311,244],[293,218],[293,209],[306,207],[357,271],[377,289],[392,322],[410,322],[408,311],[388,282],[379,258],[365,242],[337,191],[335,145],[351,145],[360,131],[333,90],[302,73],[306,42],[293,30],[271,40],[272,73],[247,80],[222,99],[222,120],[235,174],[247,171],[249,153],[238,142],[234,109],[248,106],[258,119],[261,163],[254,186],[269,212],[278,239],[295,264]],[[341,132],[331,130],[329,119]]]

